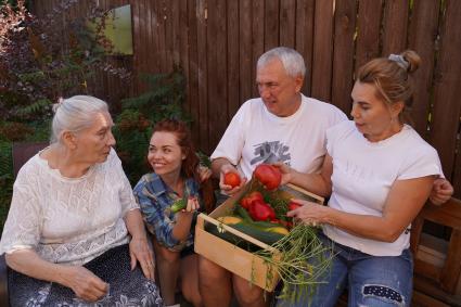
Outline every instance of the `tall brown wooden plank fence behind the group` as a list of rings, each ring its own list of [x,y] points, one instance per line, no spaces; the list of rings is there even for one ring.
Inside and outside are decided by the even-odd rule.
[[[36,0],[44,15],[59,0]],[[82,15],[88,1],[72,8]],[[304,92],[350,110],[354,74],[368,60],[407,48],[423,64],[415,74],[417,130],[439,152],[461,196],[461,1],[458,0],[100,0],[104,9],[131,4],[136,73],[187,76],[187,110],[195,142],[210,153],[239,106],[257,97],[257,57],[276,46],[298,50],[308,67]],[[140,93],[140,81],[102,76],[95,94],[114,101]]]

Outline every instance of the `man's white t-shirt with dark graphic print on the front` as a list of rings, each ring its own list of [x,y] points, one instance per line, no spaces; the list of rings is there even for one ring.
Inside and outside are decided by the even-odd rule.
[[[336,106],[303,94],[299,108],[287,117],[270,113],[260,98],[251,99],[232,118],[212,159],[226,157],[247,179],[257,165],[276,161],[318,172],[326,153],[326,129],[346,119]]]

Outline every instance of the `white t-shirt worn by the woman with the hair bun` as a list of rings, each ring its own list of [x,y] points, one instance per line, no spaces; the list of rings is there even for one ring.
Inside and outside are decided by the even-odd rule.
[[[396,180],[441,175],[437,152],[408,125],[388,139],[370,142],[354,121],[326,131],[326,150],[333,158],[333,192],[329,206],[343,212],[382,216]],[[399,256],[410,245],[404,231],[393,243],[363,239],[333,226],[323,226],[333,241],[374,256]]]

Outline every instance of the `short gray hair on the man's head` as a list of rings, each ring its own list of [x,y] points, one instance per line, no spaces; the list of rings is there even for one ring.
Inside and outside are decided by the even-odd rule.
[[[296,50],[287,47],[277,47],[267,51],[259,56],[256,67],[264,67],[276,59],[282,62],[282,65],[289,76],[302,76],[304,78],[306,75],[306,65],[304,64],[303,55],[300,55]]]

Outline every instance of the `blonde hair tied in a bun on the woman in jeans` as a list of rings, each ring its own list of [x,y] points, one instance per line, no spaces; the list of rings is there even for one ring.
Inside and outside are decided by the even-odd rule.
[[[411,123],[408,115],[413,99],[413,87],[410,75],[418,69],[421,57],[412,50],[389,57],[371,60],[360,67],[357,80],[372,84],[376,88],[376,97],[387,104],[404,102],[399,114],[401,123]]]

